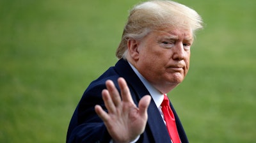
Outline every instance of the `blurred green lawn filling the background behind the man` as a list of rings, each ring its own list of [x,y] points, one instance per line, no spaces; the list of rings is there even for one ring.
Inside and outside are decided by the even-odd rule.
[[[0,142],[65,142],[138,2],[0,0]],[[205,22],[188,76],[168,94],[190,142],[255,142],[256,1],[178,2]]]

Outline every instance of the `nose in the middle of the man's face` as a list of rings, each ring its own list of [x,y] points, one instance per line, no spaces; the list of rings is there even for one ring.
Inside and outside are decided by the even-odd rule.
[[[173,47],[173,59],[177,61],[181,61],[186,57],[186,51],[184,50],[183,43],[177,42],[175,43],[175,47]]]

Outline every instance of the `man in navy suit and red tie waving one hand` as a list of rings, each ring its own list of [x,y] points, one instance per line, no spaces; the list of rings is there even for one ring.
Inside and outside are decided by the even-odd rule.
[[[119,61],[84,92],[67,142],[188,142],[166,93],[188,73],[200,28],[200,15],[182,4],[134,6],[116,50]]]

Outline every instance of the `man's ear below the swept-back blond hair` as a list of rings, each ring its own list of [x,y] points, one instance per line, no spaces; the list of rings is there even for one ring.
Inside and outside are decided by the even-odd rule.
[[[132,59],[137,60],[139,59],[140,52],[138,50],[139,47],[139,42],[137,40],[129,39],[127,41],[127,47],[128,47],[128,52]]]

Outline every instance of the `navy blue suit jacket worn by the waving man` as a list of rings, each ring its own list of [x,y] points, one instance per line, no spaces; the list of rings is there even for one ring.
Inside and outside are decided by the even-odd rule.
[[[99,79],[94,80],[84,91],[70,121],[67,142],[109,142],[111,140],[106,126],[95,113],[94,107],[98,104],[106,110],[102,100],[102,89],[106,89],[105,82],[108,79],[113,80],[115,86],[118,87],[117,79],[119,77],[124,77],[126,80],[136,105],[138,105],[143,96],[149,94],[129,63],[124,59],[120,59],[115,66],[104,72]],[[120,91],[119,87],[118,90]],[[182,143],[186,143],[188,139],[182,124],[171,103],[170,105],[176,119],[180,140]],[[145,132],[140,135],[138,142],[171,142],[163,119],[153,100],[151,100],[148,107],[148,121]]]

